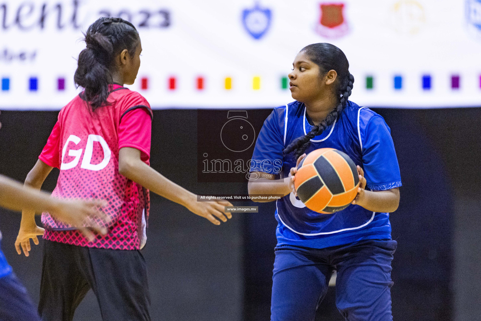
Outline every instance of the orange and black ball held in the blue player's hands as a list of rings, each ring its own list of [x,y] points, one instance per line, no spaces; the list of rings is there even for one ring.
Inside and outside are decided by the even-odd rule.
[[[307,208],[323,214],[338,212],[357,195],[359,176],[353,160],[334,148],[309,153],[297,167],[294,186]]]

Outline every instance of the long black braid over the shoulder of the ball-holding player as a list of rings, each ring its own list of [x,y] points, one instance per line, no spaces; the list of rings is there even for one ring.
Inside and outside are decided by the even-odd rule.
[[[353,84],[354,76],[349,73],[348,77],[343,79],[342,86],[339,86],[339,102],[337,106],[328,114],[326,119],[324,119],[320,124],[314,126],[305,136],[299,137],[292,141],[289,146],[284,149],[284,154],[289,154],[292,151],[295,151],[295,159],[298,159],[302,154],[304,154],[305,150],[309,148],[311,144],[311,139],[320,135],[326,128],[331,126],[334,121],[339,118],[339,116],[341,116],[342,111],[347,106],[348,98],[353,90]]]

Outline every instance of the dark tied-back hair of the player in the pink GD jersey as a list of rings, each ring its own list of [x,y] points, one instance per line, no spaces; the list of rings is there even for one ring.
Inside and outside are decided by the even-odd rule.
[[[89,26],[84,34],[87,48],[80,51],[74,80],[85,90],[80,97],[92,110],[107,105],[109,84],[112,84],[114,58],[127,49],[132,57],[139,45],[139,33],[122,18],[102,17]]]

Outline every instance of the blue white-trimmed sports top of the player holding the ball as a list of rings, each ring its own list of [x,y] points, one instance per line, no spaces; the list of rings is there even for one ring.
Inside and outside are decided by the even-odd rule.
[[[257,137],[251,171],[287,177],[296,166],[294,153],[283,154],[291,141],[311,130],[305,105],[292,102],[274,109]],[[400,187],[401,174],[391,129],[384,118],[367,107],[348,102],[337,121],[311,139],[309,154],[318,148],[335,148],[364,169],[368,190]],[[375,213],[349,205],[334,214],[320,214],[305,207],[293,193],[276,201],[279,245],[311,248],[349,244],[369,239],[391,239],[389,213]]]

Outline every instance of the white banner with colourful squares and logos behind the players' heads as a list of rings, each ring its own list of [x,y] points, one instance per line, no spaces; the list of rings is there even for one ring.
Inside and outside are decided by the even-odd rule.
[[[82,31],[105,15],[138,28],[129,87],[153,108],[291,102],[282,78],[315,42],[344,51],[361,105],[481,106],[481,0],[4,0],[0,109],[70,101]]]

